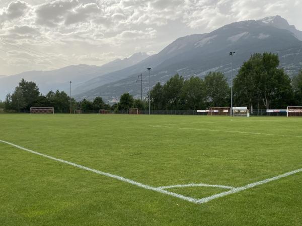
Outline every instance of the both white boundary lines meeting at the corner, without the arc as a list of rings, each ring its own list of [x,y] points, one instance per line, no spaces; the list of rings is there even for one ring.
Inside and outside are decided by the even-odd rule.
[[[124,178],[124,177],[121,177],[121,176],[111,174],[111,173],[105,173],[105,172],[95,170],[95,169],[91,169],[91,168],[88,168],[86,166],[82,166],[82,165],[79,165],[79,164],[76,164],[76,163],[72,163],[72,162],[62,160],[62,159],[54,158],[54,157],[51,157],[49,155],[45,155],[45,154],[42,154],[42,153],[39,153],[39,152],[32,151],[32,150],[27,149],[27,148],[23,148],[21,146],[15,145],[15,144],[7,142],[7,141],[0,140],[0,142],[11,145],[11,146],[14,146],[16,148],[19,148],[21,150],[30,152],[30,153],[35,154],[35,155],[39,155],[39,156],[42,156],[42,157],[45,157],[45,158],[48,158],[48,159],[52,159],[52,160],[55,160],[55,161],[58,161],[58,162],[61,162],[61,163],[65,163],[65,164],[68,164],[68,165],[71,165],[71,166],[74,166],[74,167],[77,167],[77,168],[80,168],[80,169],[84,169],[84,170],[87,170],[87,171],[90,171],[90,172],[93,172],[93,173],[97,173],[97,174],[104,175],[104,176],[107,176],[107,177],[112,177],[112,178],[115,178],[117,180],[129,183],[129,184],[133,184],[133,185],[136,185],[138,187],[141,187],[141,188],[144,188],[144,189],[147,189],[147,190],[157,191],[157,192],[167,194],[167,195],[171,195],[171,196],[174,196],[174,197],[177,197],[177,198],[180,198],[180,199],[183,199],[183,200],[187,200],[189,202],[193,202],[193,203],[196,203],[196,204],[205,203],[205,202],[211,201],[211,200],[219,198],[219,197],[234,194],[234,193],[246,190],[246,189],[256,187],[256,186],[261,185],[261,184],[266,184],[270,181],[278,180],[278,179],[281,179],[283,177],[287,177],[287,176],[302,172],[302,168],[297,169],[297,170],[293,170],[293,171],[290,171],[290,172],[287,172],[287,173],[284,173],[284,174],[281,174],[281,175],[278,175],[278,176],[275,176],[275,177],[271,177],[271,178],[268,178],[268,179],[264,179],[264,180],[261,180],[261,181],[257,181],[257,182],[254,182],[254,183],[242,186],[242,187],[232,188],[230,191],[225,191],[225,192],[221,192],[221,193],[211,195],[211,196],[208,196],[208,197],[205,197],[205,198],[196,199],[196,198],[184,196],[184,195],[181,195],[181,194],[173,193],[173,192],[170,192],[170,191],[166,191],[166,190],[162,189],[161,187],[152,187],[152,186],[149,186],[149,185],[145,185],[145,184],[136,182],[134,180],[130,180],[130,179],[127,179],[127,178]],[[175,186],[175,185],[172,185],[172,186]]]

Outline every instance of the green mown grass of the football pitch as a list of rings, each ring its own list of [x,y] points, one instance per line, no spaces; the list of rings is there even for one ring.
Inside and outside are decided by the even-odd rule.
[[[232,120],[232,121],[231,121]],[[149,127],[149,125],[197,130]],[[302,168],[301,118],[0,115],[0,140],[154,187],[244,186]],[[0,143],[3,225],[300,225],[302,173],[194,204]],[[194,198],[212,187],[167,189]]]

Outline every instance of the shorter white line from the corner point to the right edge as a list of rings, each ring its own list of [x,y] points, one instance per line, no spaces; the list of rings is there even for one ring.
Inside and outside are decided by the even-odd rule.
[[[224,191],[224,192],[221,192],[221,193],[209,196],[209,197],[201,198],[201,199],[198,200],[198,203],[205,203],[205,202],[208,202],[208,201],[213,200],[215,198],[219,198],[219,197],[223,197],[223,196],[226,196],[226,195],[234,194],[234,193],[237,193],[237,192],[240,192],[240,191],[252,188],[252,187],[256,187],[256,186],[261,185],[261,184],[266,184],[266,183],[271,182],[273,180],[279,180],[283,177],[287,177],[287,176],[290,176],[292,174],[296,174],[296,173],[299,173],[299,172],[302,172],[302,168],[297,169],[297,170],[293,170],[293,171],[290,171],[290,172],[287,172],[287,173],[284,173],[284,174],[281,174],[281,175],[278,175],[278,176],[275,176],[275,177],[271,177],[271,178],[267,178],[267,179],[264,179],[264,180],[261,180],[261,181],[257,181],[257,182],[254,182],[254,183],[242,186],[242,187],[237,187],[237,188],[234,188],[230,191]]]

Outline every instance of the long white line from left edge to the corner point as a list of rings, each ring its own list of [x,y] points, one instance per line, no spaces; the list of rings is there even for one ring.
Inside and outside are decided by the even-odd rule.
[[[99,171],[99,170],[95,170],[95,169],[91,169],[91,168],[88,168],[86,166],[82,166],[82,165],[79,165],[79,164],[76,164],[76,163],[73,163],[73,162],[68,162],[68,161],[65,161],[63,159],[54,158],[52,156],[45,155],[45,154],[42,154],[42,153],[39,153],[39,152],[35,152],[33,150],[30,150],[30,149],[27,149],[27,148],[23,148],[21,146],[15,145],[15,144],[7,142],[7,141],[0,140],[0,142],[8,144],[8,145],[11,145],[11,146],[14,146],[14,147],[19,148],[21,150],[33,153],[35,155],[43,156],[45,158],[52,159],[52,160],[55,160],[55,161],[58,161],[58,162],[62,162],[62,163],[65,163],[65,164],[68,164],[68,165],[71,165],[71,166],[74,166],[74,167],[78,167],[80,169],[84,169],[84,170],[87,170],[87,171],[90,171],[90,172],[94,172],[94,173],[100,174],[100,175],[104,175],[104,176],[107,176],[107,177],[112,177],[112,178],[115,178],[117,180],[129,183],[129,184],[133,184],[133,185],[136,185],[138,187],[145,188],[147,190],[157,191],[157,192],[160,192],[160,193],[163,193],[163,194],[167,194],[167,195],[171,195],[171,196],[174,196],[174,197],[177,197],[177,198],[181,198],[181,199],[193,202],[193,203],[197,203],[197,201],[198,201],[198,199],[196,199],[196,198],[192,198],[192,197],[184,196],[184,195],[177,194],[177,193],[174,193],[174,192],[166,191],[166,190],[163,190],[161,188],[152,187],[152,186],[149,186],[149,185],[146,185],[146,184],[142,184],[142,183],[136,182],[134,180],[130,180],[130,179],[127,179],[127,178],[124,178],[124,177],[121,177],[121,176],[117,176],[117,175],[111,174],[111,173],[105,173],[105,172],[102,172],[102,171]]]

